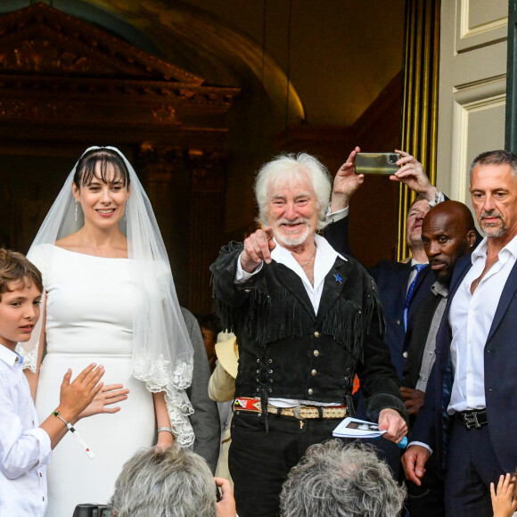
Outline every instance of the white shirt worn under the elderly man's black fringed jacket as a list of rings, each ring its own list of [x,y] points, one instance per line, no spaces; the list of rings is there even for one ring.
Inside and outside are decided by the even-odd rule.
[[[275,240],[275,239],[274,239]],[[283,248],[276,240],[276,247],[271,251],[271,258],[279,264],[283,264],[289,267],[294,273],[300,276],[301,282],[307,291],[308,298],[314,308],[315,315],[319,308],[321,295],[324,288],[324,279],[332,269],[334,262],[338,257],[343,260],[345,259],[340,253],[332,248],[332,246],[320,235],[315,234],[316,241],[316,257],[314,259],[314,285],[310,283],[308,276],[305,274],[303,267],[297,262],[292,256],[290,250]],[[247,273],[242,269],[241,257],[237,260],[237,273],[235,275],[235,283],[244,283],[250,279],[252,275],[256,275],[262,269],[262,263],[259,267],[253,271],[253,273]],[[323,402],[316,402],[314,400],[291,400],[287,398],[270,398],[270,404],[277,407],[292,407],[300,404],[306,404],[309,406],[335,406],[336,404],[327,404]]]

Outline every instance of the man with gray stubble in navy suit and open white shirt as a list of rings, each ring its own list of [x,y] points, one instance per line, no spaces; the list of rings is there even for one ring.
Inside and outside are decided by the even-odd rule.
[[[417,485],[431,451],[447,463],[450,517],[491,516],[489,484],[517,464],[517,156],[480,154],[470,191],[486,237],[456,264],[431,381],[403,456]]]

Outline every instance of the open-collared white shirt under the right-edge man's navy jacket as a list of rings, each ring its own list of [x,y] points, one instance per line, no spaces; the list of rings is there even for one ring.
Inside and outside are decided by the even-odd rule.
[[[472,252],[472,267],[451,302],[451,357],[454,382],[448,414],[483,409],[485,402],[484,349],[501,293],[517,259],[517,236],[499,251],[498,260],[471,294],[487,261],[487,238]]]

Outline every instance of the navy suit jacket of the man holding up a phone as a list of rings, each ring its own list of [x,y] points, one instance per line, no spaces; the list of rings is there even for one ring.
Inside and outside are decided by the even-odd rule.
[[[325,239],[332,248],[341,254],[352,255],[349,249],[349,217],[326,226]],[[407,283],[411,274],[411,263],[395,260],[382,260],[377,265],[367,268],[379,287],[379,299],[386,319],[384,342],[390,348],[391,362],[397,369],[398,378],[402,378],[404,365],[404,347],[406,331],[404,329],[404,304],[406,302]],[[407,332],[411,332],[414,313],[420,302],[430,293],[435,282],[430,267],[424,267],[414,284],[413,296],[407,312]]]

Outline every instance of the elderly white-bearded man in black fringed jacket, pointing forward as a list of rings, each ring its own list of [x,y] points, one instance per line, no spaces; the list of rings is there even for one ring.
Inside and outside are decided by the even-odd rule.
[[[356,373],[383,439],[407,430],[375,283],[316,234],[326,168],[305,153],[280,156],[260,169],[255,193],[263,228],[211,266],[218,315],[239,346],[229,466],[241,517],[279,512],[291,467],[353,414]]]

